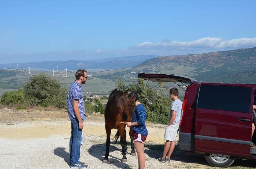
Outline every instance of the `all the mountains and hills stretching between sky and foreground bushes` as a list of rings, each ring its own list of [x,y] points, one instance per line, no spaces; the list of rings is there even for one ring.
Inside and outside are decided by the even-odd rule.
[[[17,64],[17,63],[16,63]],[[3,67],[4,66],[4,67]],[[58,66],[58,73],[56,72]],[[30,70],[34,69],[32,74]],[[104,90],[111,91],[118,78],[127,84],[137,80],[137,73],[164,73],[191,77],[199,82],[210,83],[251,83],[256,84],[256,47],[236,49],[202,54],[180,56],[126,56],[91,61],[45,61],[35,63],[19,63],[19,70],[9,70],[9,65],[0,64],[0,88],[19,89],[34,73],[41,70],[62,80],[69,85],[73,73],[63,80],[64,70],[85,68],[90,74],[87,90],[93,91],[96,85],[104,84]],[[40,71],[37,71],[40,70]],[[61,71],[62,70],[62,71]],[[69,81],[69,79],[72,79]],[[89,84],[91,82],[91,87]],[[99,90],[98,86],[98,89]]]

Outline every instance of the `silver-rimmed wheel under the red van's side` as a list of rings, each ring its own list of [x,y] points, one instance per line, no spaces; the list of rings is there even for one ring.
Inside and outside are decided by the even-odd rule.
[[[235,161],[235,156],[204,153],[206,161],[213,167],[228,167]]]

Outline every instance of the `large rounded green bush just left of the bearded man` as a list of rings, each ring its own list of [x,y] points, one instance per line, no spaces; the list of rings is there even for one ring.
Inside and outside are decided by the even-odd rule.
[[[24,91],[31,105],[66,107],[67,89],[57,79],[45,73],[31,77],[25,83]]]

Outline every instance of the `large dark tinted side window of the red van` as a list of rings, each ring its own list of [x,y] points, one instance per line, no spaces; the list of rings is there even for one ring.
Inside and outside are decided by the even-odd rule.
[[[250,100],[250,87],[201,84],[197,107],[249,113]]]

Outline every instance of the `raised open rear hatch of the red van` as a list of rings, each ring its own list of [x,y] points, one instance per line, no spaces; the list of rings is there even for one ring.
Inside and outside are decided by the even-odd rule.
[[[182,88],[181,85],[179,85],[177,82],[182,83],[184,86],[187,87],[184,83],[189,84],[198,84],[199,82],[195,79],[188,78],[188,77],[182,77],[182,76],[176,76],[176,75],[167,75],[167,74],[159,74],[159,73],[138,73],[138,78],[143,78],[145,80],[150,81],[162,81],[162,82],[174,82],[178,86]],[[184,88],[182,88],[185,90]]]

